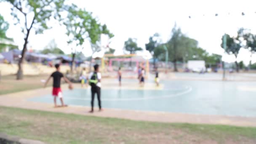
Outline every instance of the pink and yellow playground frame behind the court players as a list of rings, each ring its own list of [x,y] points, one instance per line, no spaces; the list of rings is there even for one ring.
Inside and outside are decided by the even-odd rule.
[[[149,58],[148,56],[141,56],[137,54],[104,54],[101,58],[101,72],[114,72],[121,67],[125,73],[134,75],[138,73],[138,68],[144,68],[146,71],[146,78],[149,74]]]

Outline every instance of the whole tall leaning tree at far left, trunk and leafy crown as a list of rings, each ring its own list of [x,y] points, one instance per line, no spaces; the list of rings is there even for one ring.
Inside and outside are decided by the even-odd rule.
[[[45,29],[50,27],[46,24],[47,21],[53,16],[58,19],[61,17],[59,12],[64,6],[64,0],[3,0],[11,3],[11,15],[20,24],[21,14],[24,19],[24,24],[21,24],[21,32],[24,33],[24,45],[19,59],[19,70],[17,72],[17,80],[23,79],[23,61],[27,51],[27,44],[31,29],[35,29],[35,34],[41,34]],[[32,19],[30,19],[32,18]]]

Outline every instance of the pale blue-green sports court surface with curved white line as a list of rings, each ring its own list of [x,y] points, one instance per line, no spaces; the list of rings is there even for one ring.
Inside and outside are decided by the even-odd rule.
[[[127,80],[132,83],[131,80]],[[203,115],[256,117],[256,82],[162,81],[163,89],[102,88],[105,108],[178,112]],[[138,83],[134,82],[134,85]],[[91,91],[79,88],[64,91],[69,105],[90,106]],[[37,96],[29,101],[53,103],[53,97]],[[95,99],[97,107],[97,99]]]

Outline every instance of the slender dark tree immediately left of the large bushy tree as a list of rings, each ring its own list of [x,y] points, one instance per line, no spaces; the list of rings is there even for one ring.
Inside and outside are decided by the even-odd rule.
[[[154,59],[154,68],[155,68],[155,48],[158,47],[158,45],[160,45],[159,41],[157,41],[159,37],[159,34],[158,33],[155,33],[153,36],[149,37],[149,43],[146,43],[145,44],[145,47],[146,47],[146,50],[149,51],[152,56],[153,56],[153,59]]]

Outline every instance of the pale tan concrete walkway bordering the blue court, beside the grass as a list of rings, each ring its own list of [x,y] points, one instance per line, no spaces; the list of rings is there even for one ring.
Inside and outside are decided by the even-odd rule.
[[[103,83],[103,85],[106,85]],[[124,84],[125,85],[125,84]],[[107,85],[106,85],[107,86]],[[62,85],[62,89],[67,89],[67,85]],[[79,88],[80,85],[75,85]],[[110,87],[108,85],[108,87]],[[114,88],[115,86],[113,86]],[[19,107],[25,109],[37,109],[49,112],[63,112],[78,115],[93,115],[99,117],[115,117],[129,120],[142,120],[166,123],[200,123],[200,124],[223,124],[237,126],[256,127],[256,117],[231,117],[221,115],[192,115],[170,112],[145,112],[122,109],[104,109],[103,112],[88,113],[89,107],[69,106],[64,108],[53,108],[53,104],[27,101],[27,99],[51,93],[51,88],[40,88],[30,91],[22,91],[0,96],[0,106]],[[64,98],[65,100],[65,98]]]

